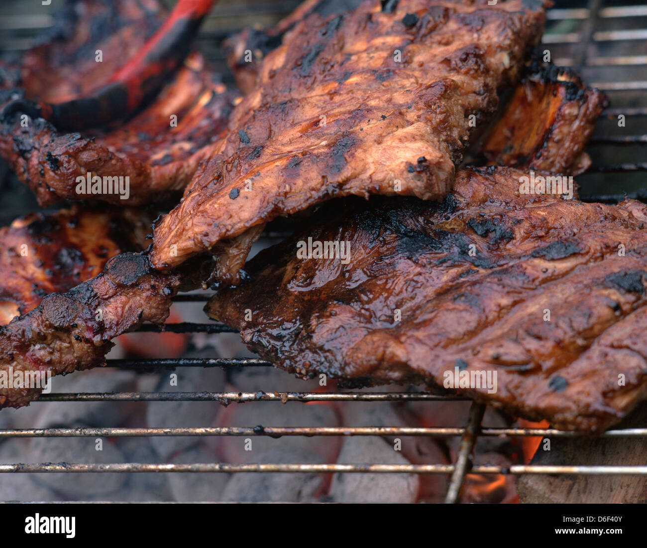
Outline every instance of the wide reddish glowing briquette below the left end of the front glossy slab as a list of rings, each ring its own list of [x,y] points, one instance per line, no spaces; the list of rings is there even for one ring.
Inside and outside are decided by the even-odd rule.
[[[262,421],[262,422],[261,422]],[[219,415],[217,426],[339,426],[333,406],[288,402],[232,404]],[[318,462],[334,462],[340,447],[337,437],[267,436],[219,437],[215,439],[217,455],[225,462],[262,462],[261,453],[280,447],[290,453],[307,449],[320,455]]]

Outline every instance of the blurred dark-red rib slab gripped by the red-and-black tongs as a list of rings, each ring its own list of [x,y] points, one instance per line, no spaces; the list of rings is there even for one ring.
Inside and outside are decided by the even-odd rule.
[[[21,97],[61,102],[101,87],[159,24],[157,3],[140,5],[146,9],[124,1],[77,3],[73,16],[63,17],[60,34],[27,52],[17,69],[6,69],[13,78],[0,82],[0,107]],[[102,48],[105,62],[98,63],[95,50]],[[151,104],[119,126],[64,133],[42,118],[28,119],[27,126],[19,115],[5,119],[0,123],[0,157],[41,205],[164,200],[181,193],[199,161],[221,139],[236,98],[202,56],[192,54]],[[129,188],[126,192],[122,184],[120,192],[111,193],[78,188],[76,178],[87,172],[129,177]]]

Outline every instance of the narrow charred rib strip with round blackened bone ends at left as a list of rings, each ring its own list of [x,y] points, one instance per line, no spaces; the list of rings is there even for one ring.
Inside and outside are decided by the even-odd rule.
[[[188,266],[188,265],[187,265]],[[146,255],[122,253],[98,276],[67,293],[54,293],[37,308],[0,326],[0,378],[21,372],[52,376],[104,365],[111,339],[144,322],[164,323],[171,299],[190,276],[162,274]],[[52,381],[55,385],[56,381]],[[0,384],[0,408],[22,407],[38,397],[38,387]]]

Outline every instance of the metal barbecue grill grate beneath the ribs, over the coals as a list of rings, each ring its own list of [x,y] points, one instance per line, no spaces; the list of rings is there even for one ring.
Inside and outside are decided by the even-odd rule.
[[[622,1],[622,0],[621,0]],[[647,144],[647,134],[636,134],[639,124],[644,126],[647,117],[647,5],[617,6],[609,0],[575,2],[576,7],[565,7],[559,0],[548,12],[547,34],[543,38],[544,49],[551,51],[556,65],[576,69],[591,86],[609,94],[611,108],[598,122],[598,131],[589,145],[593,166],[578,177],[582,198],[586,201],[613,202],[622,200],[624,193],[633,198],[647,198],[642,173],[647,171],[647,162],[641,154]],[[287,14],[298,3],[219,3],[204,24],[199,37],[199,47],[214,63],[216,69],[226,73],[225,60],[219,51],[219,43],[232,30],[241,29],[250,23],[270,25]],[[573,5],[573,3],[571,3]],[[253,10],[253,15],[252,15]],[[49,16],[25,15],[3,18],[3,37],[0,47],[5,51],[19,52],[32,43],[32,36],[51,23]],[[624,126],[619,126],[619,117],[624,117]],[[641,124],[642,117],[642,124]],[[3,183],[4,184],[4,183]],[[641,188],[644,189],[641,190]],[[3,217],[10,220],[15,209],[7,208]],[[175,301],[193,303],[202,307],[208,293],[179,295]],[[141,331],[158,331],[155,326],[143,326]],[[183,334],[221,334],[233,330],[217,323],[168,324],[165,330]],[[209,358],[162,358],[146,360],[107,360],[110,368],[174,369],[181,367],[272,367],[258,359],[209,359]],[[280,405],[285,402],[411,402],[422,401],[433,406],[435,402],[465,400],[466,398],[438,396],[420,392],[120,392],[101,393],[50,393],[42,394],[39,402],[170,402],[208,401],[221,404],[267,401]],[[115,404],[118,405],[118,404]],[[487,428],[483,426],[485,406],[472,402],[468,422],[462,428],[388,428],[388,427],[338,427],[338,428],[274,428],[263,426],[239,426],[229,428],[45,428],[0,430],[0,438],[12,437],[173,437],[173,436],[431,436],[459,437],[460,445],[453,464],[235,464],[235,463],[185,463],[141,464],[124,462],[112,464],[84,464],[83,462],[1,464],[3,473],[34,472],[312,472],[362,474],[447,474],[450,475],[445,501],[460,501],[461,487],[467,474],[631,474],[647,475],[644,466],[543,466],[543,465],[472,465],[471,453],[479,438],[483,437],[542,437],[549,439],[577,437],[577,433],[545,428]],[[258,422],[263,417],[259,413]],[[646,428],[612,429],[602,435],[606,438],[644,437]],[[280,442],[280,440],[278,440]]]

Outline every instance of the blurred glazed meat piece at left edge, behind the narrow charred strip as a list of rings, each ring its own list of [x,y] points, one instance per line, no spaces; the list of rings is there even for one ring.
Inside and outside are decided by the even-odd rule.
[[[141,251],[152,218],[74,205],[30,214],[0,229],[0,325],[100,273],[122,251]]]

